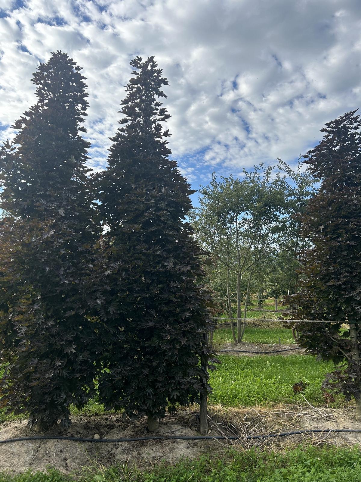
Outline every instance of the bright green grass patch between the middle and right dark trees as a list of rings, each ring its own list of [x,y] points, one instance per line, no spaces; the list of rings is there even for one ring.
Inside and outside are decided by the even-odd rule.
[[[321,384],[325,374],[334,369],[332,362],[320,362],[310,355],[222,355],[219,360],[222,363],[210,376],[213,393],[209,396],[209,403],[226,407],[304,402],[301,394],[295,394],[292,388],[301,380],[308,383],[302,392],[307,400],[322,405]],[[343,400],[337,398],[338,403]]]

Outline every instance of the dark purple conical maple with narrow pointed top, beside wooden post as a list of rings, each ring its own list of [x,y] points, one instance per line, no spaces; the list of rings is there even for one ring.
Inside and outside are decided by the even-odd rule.
[[[109,362],[99,381],[102,402],[129,415],[148,415],[148,428],[177,403],[209,390],[206,334],[209,295],[198,285],[201,251],[185,216],[189,184],[181,176],[162,122],[168,85],[154,57],[135,58],[113,137],[109,167],[98,177],[113,268],[105,298]],[[112,271],[112,272],[110,272]],[[117,274],[115,274],[115,271]],[[200,363],[202,361],[202,364]]]

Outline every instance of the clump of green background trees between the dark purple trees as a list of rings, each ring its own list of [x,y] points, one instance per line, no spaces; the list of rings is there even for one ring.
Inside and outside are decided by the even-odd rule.
[[[300,159],[296,171],[279,159],[276,166],[244,169],[241,178],[218,180],[213,174],[200,190],[193,228],[211,254],[207,281],[226,301],[229,318],[237,318],[237,334],[231,323],[234,342],[242,340],[241,317],[252,295],[257,294],[260,308],[265,297],[273,297],[277,310],[279,298],[297,293],[299,256],[309,246],[300,235],[300,216],[316,182]]]

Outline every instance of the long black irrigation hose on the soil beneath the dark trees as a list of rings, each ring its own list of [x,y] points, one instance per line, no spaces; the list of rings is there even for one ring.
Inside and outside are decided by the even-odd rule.
[[[276,437],[288,437],[289,435],[300,435],[303,433],[361,433],[361,429],[357,428],[314,428],[310,430],[294,430],[293,432],[283,432],[283,433],[266,433],[262,435],[248,435],[245,437],[247,440],[257,440],[257,439],[271,439]],[[9,442],[22,442],[27,440],[70,440],[74,442],[142,442],[145,440],[241,440],[244,437],[234,437],[229,436],[226,437],[224,435],[200,435],[200,436],[177,436],[171,435],[167,437],[166,435],[163,436],[154,436],[154,437],[134,437],[134,438],[122,438],[122,439],[86,439],[82,437],[62,437],[62,436],[55,436],[55,435],[35,435],[33,437],[17,437],[13,439],[4,439],[0,440],[0,443],[9,443]]]

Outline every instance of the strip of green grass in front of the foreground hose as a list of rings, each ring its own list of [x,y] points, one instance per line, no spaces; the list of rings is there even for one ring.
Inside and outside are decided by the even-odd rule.
[[[0,482],[70,482],[70,476],[50,470],[15,477],[1,476]],[[77,479],[79,480],[79,479]],[[140,471],[127,467],[88,471],[83,482],[361,482],[361,454],[358,447],[320,448],[299,446],[283,452],[226,451],[217,458],[202,456],[174,466],[156,464]]]

